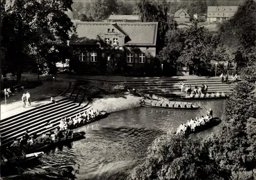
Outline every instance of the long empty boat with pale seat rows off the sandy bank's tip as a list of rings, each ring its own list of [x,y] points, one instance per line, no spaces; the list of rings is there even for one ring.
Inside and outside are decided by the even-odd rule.
[[[140,105],[144,107],[175,108],[175,109],[198,109],[199,105],[190,102],[179,101],[157,101],[140,99]]]

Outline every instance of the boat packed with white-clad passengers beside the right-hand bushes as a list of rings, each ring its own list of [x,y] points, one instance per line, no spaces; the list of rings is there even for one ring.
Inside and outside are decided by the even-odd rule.
[[[221,119],[219,118],[212,118],[211,116],[202,116],[201,118],[191,119],[188,120],[186,123],[182,123],[177,131],[176,134],[191,134],[191,133],[197,133],[202,130],[214,127],[221,123]]]

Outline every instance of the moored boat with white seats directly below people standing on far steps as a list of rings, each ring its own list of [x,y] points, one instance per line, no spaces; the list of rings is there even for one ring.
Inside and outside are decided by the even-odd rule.
[[[206,93],[206,94],[189,94],[181,96],[183,99],[225,99],[227,94],[225,93]]]

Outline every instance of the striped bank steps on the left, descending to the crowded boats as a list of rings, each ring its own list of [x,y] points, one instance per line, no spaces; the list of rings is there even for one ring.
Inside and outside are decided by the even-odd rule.
[[[73,118],[83,107],[76,105],[68,98],[60,99],[34,109],[1,120],[2,145],[22,138],[26,130],[29,134],[44,133],[59,126],[62,118]]]

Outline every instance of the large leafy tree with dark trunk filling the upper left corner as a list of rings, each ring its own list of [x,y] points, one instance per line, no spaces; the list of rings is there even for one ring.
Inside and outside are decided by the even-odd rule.
[[[17,81],[26,58],[35,49],[46,58],[58,44],[67,44],[73,23],[65,13],[72,2],[6,0],[2,21],[2,50],[9,71],[16,71]],[[51,50],[52,49],[52,50]]]

